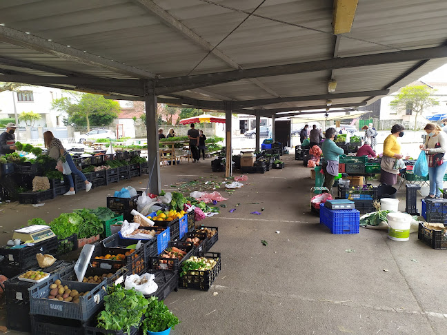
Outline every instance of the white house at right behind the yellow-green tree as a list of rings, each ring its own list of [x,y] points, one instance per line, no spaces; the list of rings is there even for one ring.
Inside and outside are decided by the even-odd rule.
[[[423,81],[415,81],[410,85],[427,85],[436,91],[432,97],[439,101],[439,105],[427,108],[423,114],[418,114],[417,124],[422,126],[427,123],[425,116],[432,116],[434,114],[447,114],[447,83],[426,83]],[[394,123],[403,123],[405,126],[413,128],[415,125],[415,114],[408,108],[407,110],[393,110],[390,102],[393,101],[398,92],[394,92],[380,100],[380,128],[390,128]]]

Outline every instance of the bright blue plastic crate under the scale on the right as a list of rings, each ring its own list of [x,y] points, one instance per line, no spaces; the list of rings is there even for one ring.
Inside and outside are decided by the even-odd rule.
[[[320,204],[320,223],[332,234],[359,234],[360,212],[358,210],[330,210]]]

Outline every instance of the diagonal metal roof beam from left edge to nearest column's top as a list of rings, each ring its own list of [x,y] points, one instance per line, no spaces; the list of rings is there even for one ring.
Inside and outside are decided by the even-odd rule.
[[[23,48],[36,50],[46,54],[52,54],[63,59],[68,59],[69,61],[125,74],[130,77],[141,79],[154,79],[156,77],[155,74],[146,70],[134,68],[117,61],[111,61],[110,59],[102,58],[100,55],[82,52],[81,50],[70,48],[66,45],[54,43],[48,41],[48,39],[42,39],[41,37],[26,34],[25,32],[4,26],[0,26],[0,41],[12,45],[19,45]]]

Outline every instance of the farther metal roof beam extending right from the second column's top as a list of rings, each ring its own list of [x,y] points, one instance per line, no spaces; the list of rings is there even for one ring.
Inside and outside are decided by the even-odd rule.
[[[299,97],[283,97],[273,99],[259,99],[259,100],[246,100],[235,101],[233,105],[235,108],[248,108],[260,105],[271,105],[273,103],[284,103],[292,101],[311,101],[311,100],[326,100],[326,99],[345,99],[345,98],[358,98],[358,97],[370,97],[386,95],[390,90],[377,90],[377,91],[364,91],[364,92],[346,92],[346,93],[327,93],[317,95],[305,95]]]

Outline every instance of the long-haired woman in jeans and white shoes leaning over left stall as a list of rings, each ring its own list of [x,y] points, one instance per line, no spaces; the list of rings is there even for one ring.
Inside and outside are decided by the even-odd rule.
[[[74,165],[72,156],[66,152],[65,148],[63,148],[61,141],[56,139],[52,132],[48,131],[43,133],[43,143],[45,148],[48,149],[46,155],[58,161],[58,170],[62,168],[62,173],[66,174],[68,183],[70,183],[70,190],[63,195],[68,196],[76,194],[76,192],[74,192],[73,177],[71,175],[72,173],[79,176],[79,178],[86,183],[86,192],[90,191],[92,188],[92,183],[90,183],[86,176],[84,176],[83,173],[77,169],[76,165]]]

